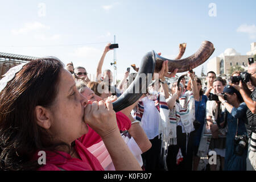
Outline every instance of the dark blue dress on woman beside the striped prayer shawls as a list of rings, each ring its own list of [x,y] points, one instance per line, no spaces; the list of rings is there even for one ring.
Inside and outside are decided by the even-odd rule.
[[[195,101],[195,117],[196,120],[201,123],[199,129],[195,132],[193,137],[193,146],[199,146],[201,140],[201,134],[204,127],[205,122],[205,110],[206,110],[206,103],[207,103],[207,96],[203,95],[201,101]]]

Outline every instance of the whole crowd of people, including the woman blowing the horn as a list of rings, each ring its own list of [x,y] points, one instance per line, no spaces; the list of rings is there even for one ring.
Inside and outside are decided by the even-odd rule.
[[[113,85],[84,65],[43,57],[11,68],[0,80],[0,170],[246,171],[256,169],[256,63],[250,81],[195,72],[168,85],[162,64],[139,100],[115,112],[134,76]],[[92,72],[92,71],[90,71]],[[240,76],[234,72],[232,76]],[[41,151],[41,152],[40,152]],[[42,151],[45,162],[42,164]],[[212,155],[213,154],[213,155]],[[206,160],[207,159],[207,160]],[[213,159],[213,160],[211,160]]]

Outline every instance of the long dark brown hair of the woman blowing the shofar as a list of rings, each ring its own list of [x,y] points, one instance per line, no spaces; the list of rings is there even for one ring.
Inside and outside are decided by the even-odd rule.
[[[63,68],[55,57],[31,61],[0,93],[0,170],[35,170],[40,167],[33,158],[37,151],[69,147],[53,143],[35,119],[36,106],[49,107],[55,101]]]

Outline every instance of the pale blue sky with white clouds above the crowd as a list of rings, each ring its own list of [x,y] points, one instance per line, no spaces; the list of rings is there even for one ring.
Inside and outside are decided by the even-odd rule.
[[[210,3],[216,5],[216,16]],[[173,59],[180,43],[183,57],[209,40],[218,56],[226,48],[241,55],[256,42],[256,1],[0,1],[0,52],[56,56],[95,74],[106,43],[116,36],[117,73],[139,65],[149,51]],[[112,69],[113,51],[103,69]],[[207,70],[207,62],[203,64]],[[201,66],[195,69],[200,75]]]

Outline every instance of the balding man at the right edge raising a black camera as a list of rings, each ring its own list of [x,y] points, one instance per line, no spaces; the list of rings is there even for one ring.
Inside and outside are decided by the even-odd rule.
[[[256,86],[256,63],[253,63],[249,66],[247,73],[249,73],[251,84],[253,86]],[[248,107],[248,110],[246,112],[248,120],[246,127],[250,136],[250,147],[248,156],[251,166],[254,170],[256,170],[256,89],[254,89],[251,93],[250,90],[247,88],[246,81],[240,80],[239,85],[232,85],[241,93],[242,98]]]

